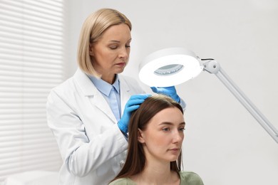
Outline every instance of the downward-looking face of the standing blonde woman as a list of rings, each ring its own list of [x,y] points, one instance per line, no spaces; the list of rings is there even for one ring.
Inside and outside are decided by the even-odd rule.
[[[103,36],[91,45],[90,55],[93,57],[93,67],[106,82],[110,83],[115,74],[123,72],[128,63],[130,42],[130,28],[125,23],[121,23],[108,28]]]

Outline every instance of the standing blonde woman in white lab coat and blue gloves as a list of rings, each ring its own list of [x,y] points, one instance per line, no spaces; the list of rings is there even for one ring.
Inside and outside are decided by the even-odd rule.
[[[120,75],[128,64],[131,27],[114,9],[88,16],[79,37],[78,70],[48,95],[48,127],[63,159],[60,184],[108,184],[125,162],[130,113],[149,97],[136,80]],[[151,89],[185,108],[174,86]]]

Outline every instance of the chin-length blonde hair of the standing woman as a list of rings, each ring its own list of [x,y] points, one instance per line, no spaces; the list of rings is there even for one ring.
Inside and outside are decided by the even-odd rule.
[[[81,28],[77,53],[78,66],[84,73],[100,77],[93,68],[92,56],[89,53],[90,43],[98,41],[110,26],[120,23],[128,25],[131,31],[131,22],[115,9],[99,9],[86,18]]]

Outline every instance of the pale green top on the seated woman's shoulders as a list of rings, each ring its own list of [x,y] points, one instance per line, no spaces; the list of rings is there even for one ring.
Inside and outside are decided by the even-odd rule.
[[[129,178],[121,178],[111,182],[109,185],[136,185],[134,181]],[[192,171],[180,171],[180,185],[204,185],[202,179],[198,174]]]

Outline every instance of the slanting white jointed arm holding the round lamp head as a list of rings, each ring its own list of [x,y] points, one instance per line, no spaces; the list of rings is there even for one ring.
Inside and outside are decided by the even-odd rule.
[[[277,129],[267,120],[267,117],[262,115],[257,107],[249,100],[249,98],[244,95],[242,90],[232,82],[232,80],[228,77],[224,70],[220,67],[220,64],[217,61],[205,60],[202,63],[204,66],[203,70],[207,71],[208,73],[214,73],[217,78],[230,90],[230,92],[237,97],[242,105],[249,111],[249,113],[259,122],[260,125],[268,132],[268,134],[278,143],[278,131]]]

